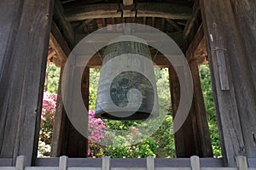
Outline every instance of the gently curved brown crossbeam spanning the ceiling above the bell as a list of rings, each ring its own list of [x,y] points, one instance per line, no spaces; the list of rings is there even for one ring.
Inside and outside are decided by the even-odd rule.
[[[77,5],[67,8],[67,20],[88,20],[99,18],[119,18],[116,3]],[[189,20],[191,8],[172,3],[137,3],[137,17],[160,17],[172,20]],[[131,8],[124,7],[124,17],[134,17]]]

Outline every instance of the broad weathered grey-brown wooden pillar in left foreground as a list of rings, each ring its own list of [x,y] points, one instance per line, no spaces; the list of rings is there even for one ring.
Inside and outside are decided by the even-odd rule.
[[[52,11],[52,0],[1,2],[0,157],[13,165],[37,156]]]

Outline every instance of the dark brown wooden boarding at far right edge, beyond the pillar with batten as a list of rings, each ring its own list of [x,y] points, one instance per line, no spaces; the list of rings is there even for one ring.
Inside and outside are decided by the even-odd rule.
[[[230,0],[228,5],[232,32],[229,32],[227,48],[241,129],[246,156],[256,157],[256,3],[253,0]]]

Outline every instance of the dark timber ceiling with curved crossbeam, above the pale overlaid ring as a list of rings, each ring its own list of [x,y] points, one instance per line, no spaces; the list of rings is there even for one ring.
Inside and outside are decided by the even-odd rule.
[[[55,0],[54,21],[72,49],[81,39],[104,26],[136,22],[153,26],[177,42],[183,53],[201,26],[198,0],[133,0],[134,8],[120,0]],[[123,9],[123,18],[117,10]]]

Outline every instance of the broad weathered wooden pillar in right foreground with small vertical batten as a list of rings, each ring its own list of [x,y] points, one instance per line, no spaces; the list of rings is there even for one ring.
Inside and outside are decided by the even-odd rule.
[[[256,4],[200,2],[224,161],[236,167],[236,156],[256,156],[255,22],[244,20],[255,21]]]

